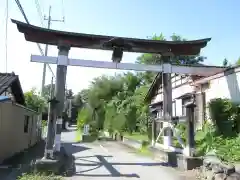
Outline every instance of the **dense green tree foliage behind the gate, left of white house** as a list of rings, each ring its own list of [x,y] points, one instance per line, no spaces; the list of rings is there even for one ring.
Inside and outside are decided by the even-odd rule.
[[[154,35],[151,38],[166,40],[163,34]],[[173,34],[170,39],[186,40],[176,34]],[[204,59],[205,57],[200,55],[177,56],[170,61],[175,64],[196,64],[203,62]],[[158,54],[143,54],[137,58],[136,63],[161,64],[162,58]],[[153,72],[128,72],[115,76],[97,77],[88,89],[77,94],[76,99],[94,109],[98,117],[94,121],[99,129],[106,129],[111,133],[115,131],[147,133],[151,118],[144,97],[155,76],[156,73]]]

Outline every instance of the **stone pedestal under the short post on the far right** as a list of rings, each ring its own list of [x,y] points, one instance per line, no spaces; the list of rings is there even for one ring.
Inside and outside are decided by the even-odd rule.
[[[182,154],[177,155],[177,167],[180,170],[192,170],[203,165],[203,159],[199,157],[187,157]]]

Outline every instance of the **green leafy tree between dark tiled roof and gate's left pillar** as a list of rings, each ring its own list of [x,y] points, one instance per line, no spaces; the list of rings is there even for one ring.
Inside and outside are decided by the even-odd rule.
[[[40,113],[47,111],[46,101],[40,95],[38,95],[36,89],[32,89],[28,92],[25,92],[24,97],[26,101],[26,106],[29,109],[32,109]]]

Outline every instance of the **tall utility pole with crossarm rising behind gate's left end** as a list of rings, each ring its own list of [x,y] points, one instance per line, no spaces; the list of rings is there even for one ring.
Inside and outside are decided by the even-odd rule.
[[[48,27],[47,27],[48,29],[50,29],[52,21],[54,21],[54,22],[64,22],[65,21],[64,17],[61,20],[52,19],[52,17],[51,17],[51,10],[52,10],[52,7],[49,6],[48,18],[46,18],[44,16],[44,20],[48,21]],[[47,56],[47,54],[48,54],[48,44],[46,44],[44,56]],[[45,81],[46,81],[46,67],[47,67],[47,64],[44,63],[43,64],[43,74],[42,74],[42,89],[41,89],[41,95],[42,96],[43,96],[43,90],[44,90]]]

